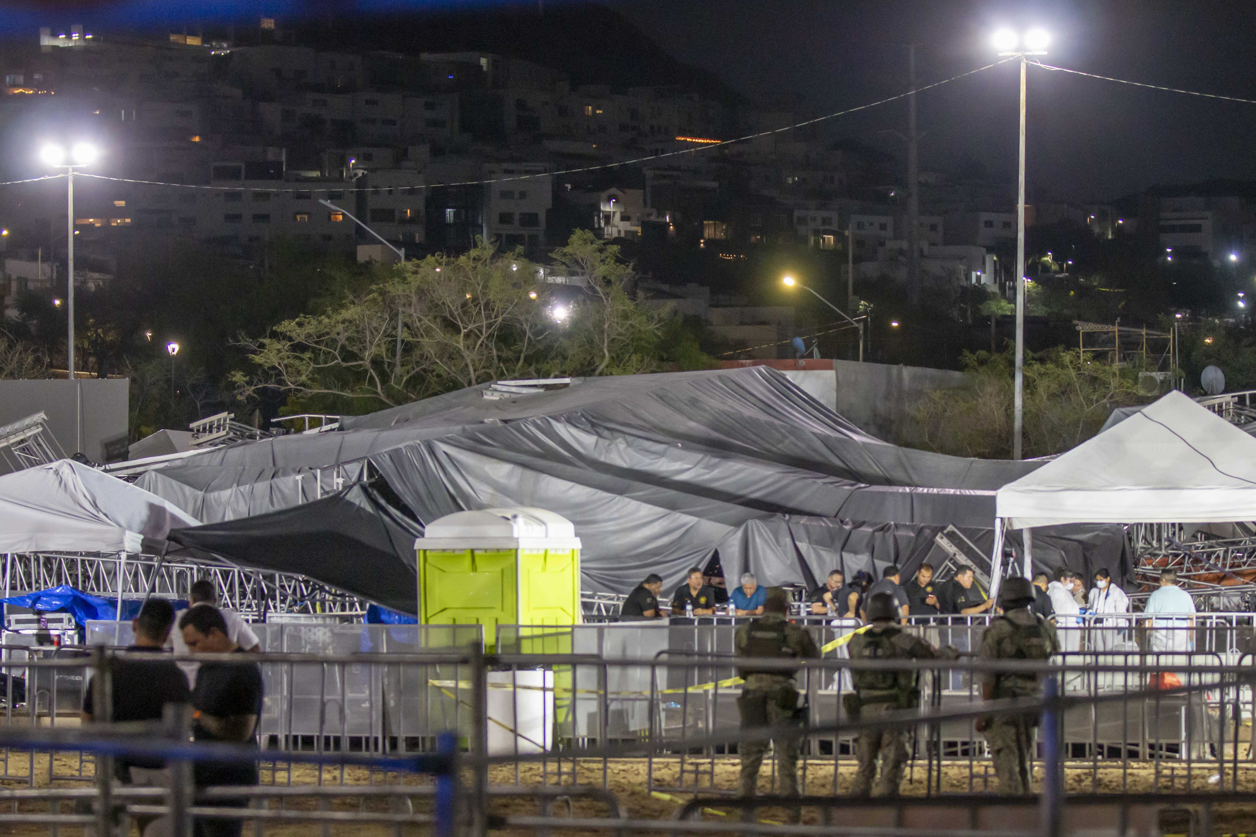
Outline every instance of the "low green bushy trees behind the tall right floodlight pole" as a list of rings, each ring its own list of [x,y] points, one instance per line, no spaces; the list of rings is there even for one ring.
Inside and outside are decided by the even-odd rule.
[[[932,392],[912,405],[916,430],[907,443],[961,457],[1011,456],[1010,351],[965,353],[966,385]],[[1115,407],[1150,400],[1138,370],[1085,361],[1075,351],[1030,353],[1024,366],[1025,456],[1064,453],[1099,432]]]

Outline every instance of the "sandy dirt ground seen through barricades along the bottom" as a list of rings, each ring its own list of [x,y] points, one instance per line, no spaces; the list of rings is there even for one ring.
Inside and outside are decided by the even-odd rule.
[[[10,774],[14,768],[25,764],[25,759],[15,759],[9,764]],[[85,764],[87,776],[90,776],[90,764]],[[1120,792],[1125,789],[1134,793],[1144,793],[1158,791],[1162,793],[1182,792],[1188,787],[1196,791],[1216,789],[1216,784],[1210,783],[1210,778],[1216,774],[1215,769],[1201,767],[1197,764],[1191,772],[1189,782],[1186,772],[1181,768],[1172,769],[1172,764],[1162,763],[1159,776],[1157,776],[1154,765],[1148,764],[1133,764],[1128,772],[1123,774],[1120,765],[1110,768],[1100,768],[1099,770],[1091,770],[1089,767],[1070,767],[1066,772],[1068,789],[1073,793],[1091,793],[1098,791],[1100,793]],[[58,774],[65,776],[69,773],[78,773],[79,763],[78,758],[68,758],[64,755],[58,755],[54,762],[54,768]],[[622,759],[613,760],[605,764],[600,762],[582,762],[578,765],[577,774],[571,773],[571,762],[565,760],[561,763],[561,772],[559,770],[559,764],[550,763],[548,765],[540,764],[525,764],[520,765],[517,772],[514,767],[495,767],[491,770],[490,781],[492,784],[500,786],[514,786],[522,784],[536,787],[541,784],[548,786],[570,786],[588,784],[600,787],[603,783],[603,769],[605,770],[605,783],[607,787],[615,793],[624,807],[628,809],[629,816],[634,818],[659,818],[666,819],[674,814],[679,807],[679,801],[688,799],[693,794],[693,789],[701,787],[702,796],[718,796],[718,792],[732,792],[737,784],[737,770],[739,764],[736,758],[717,758],[717,759],[690,759],[685,760],[685,772],[681,772],[679,759],[656,759],[653,764],[653,782],[654,787],[669,787],[669,788],[688,788],[688,792],[672,789],[663,793],[651,793],[647,791],[647,762],[644,759]],[[838,772],[838,793],[844,793],[850,784],[852,777],[854,774],[853,764],[843,764]],[[977,762],[972,765],[971,772],[973,781],[971,789],[978,793],[993,791],[995,781],[993,777],[988,777],[988,787],[986,786],[986,772],[985,763]],[[1124,778],[1123,778],[1124,776]],[[970,789],[970,764],[968,762],[955,762],[947,763],[942,769],[942,791],[943,793],[965,793]],[[1040,776],[1039,776],[1040,778]],[[283,767],[278,770],[278,774],[271,770],[263,770],[263,782],[279,786],[313,786],[319,784],[320,777],[319,770],[310,765],[293,765],[291,769]],[[760,789],[762,792],[770,792],[771,789],[771,777],[769,774],[767,765],[765,764],[764,772],[760,781]],[[833,765],[831,763],[824,762],[810,762],[806,765],[805,783],[806,793],[814,796],[831,796],[833,794]],[[1227,770],[1226,773],[1226,787],[1228,788],[1232,782],[1232,773]],[[324,786],[363,786],[363,784],[425,784],[426,779],[423,777],[412,776],[398,776],[394,773],[371,773],[364,768],[323,768],[322,770],[322,784]],[[48,757],[36,755],[35,759],[35,786],[48,787]],[[63,787],[82,787],[82,782],[67,782],[57,781],[57,786]],[[29,787],[29,779],[10,779],[0,781],[3,787]],[[1124,786],[1124,787],[1123,787]],[[713,789],[712,789],[713,788]],[[1256,764],[1247,765],[1240,764],[1238,772],[1238,788],[1243,791],[1256,791]],[[349,788],[347,788],[348,791]],[[352,791],[350,791],[352,793]],[[914,769],[908,770],[908,778],[903,784],[904,794],[923,794],[924,793],[924,767],[922,763],[917,763]],[[329,808],[332,811],[389,811],[389,803],[383,799],[365,799],[353,798],[352,796],[339,797],[330,801]],[[270,808],[278,809],[280,803],[278,801],[270,802]],[[317,808],[317,803],[311,799],[295,799],[288,801],[284,807],[293,811],[313,811]],[[430,812],[431,801],[425,797],[416,797],[412,799],[412,808],[414,812]],[[19,811],[46,811],[46,807],[36,806],[35,803],[23,803]],[[8,811],[13,811],[8,808]],[[501,816],[525,816],[525,814],[539,814],[540,808],[535,801],[529,799],[495,799],[494,801],[494,813]],[[554,806],[556,816],[575,816],[575,817],[602,817],[607,816],[605,806],[602,802],[588,801],[588,799],[574,799],[568,806],[566,802]],[[764,811],[760,812],[760,817],[770,821],[784,821],[785,812],[772,812]],[[721,821],[722,818],[716,814],[706,814],[706,819]],[[1186,813],[1168,813],[1162,818],[1162,827],[1166,833],[1184,833],[1187,828],[1187,814]],[[51,828],[40,824],[23,824],[5,822],[6,817],[0,812],[0,834],[13,834],[14,837],[36,837],[43,834],[51,834]],[[1256,812],[1253,811],[1225,811],[1218,809],[1215,816],[1217,833],[1238,833],[1252,831],[1252,822],[1256,821]],[[804,822],[818,823],[819,813],[814,811],[805,812]],[[425,827],[408,826],[401,829],[404,834],[421,834],[427,833]],[[62,837],[78,837],[78,827],[67,827],[62,829]],[[246,826],[245,834],[252,834],[254,827]],[[261,828],[263,837],[387,837],[388,834],[398,833],[392,826],[384,824],[332,824],[328,826],[324,832],[323,828],[317,823],[309,822],[290,822],[290,823],[268,823]],[[505,833],[505,832],[497,832]],[[566,833],[579,833],[579,834],[605,834],[604,831],[598,832],[579,832],[571,829]],[[138,837],[138,832],[133,828],[131,831],[132,837]]]

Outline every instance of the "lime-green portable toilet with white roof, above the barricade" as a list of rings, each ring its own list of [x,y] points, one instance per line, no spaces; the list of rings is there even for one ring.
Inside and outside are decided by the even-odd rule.
[[[432,521],[418,551],[418,621],[575,625],[580,621],[580,538],[544,508],[484,508]]]

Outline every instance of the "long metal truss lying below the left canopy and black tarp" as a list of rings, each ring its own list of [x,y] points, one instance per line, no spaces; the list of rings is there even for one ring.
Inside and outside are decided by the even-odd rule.
[[[15,592],[69,585],[75,590],[114,599],[122,595],[186,599],[197,578],[214,581],[219,601],[241,615],[263,621],[268,614],[362,616],[367,602],[301,575],[250,570],[230,563],[168,560],[157,556],[24,553],[5,556],[5,589]]]

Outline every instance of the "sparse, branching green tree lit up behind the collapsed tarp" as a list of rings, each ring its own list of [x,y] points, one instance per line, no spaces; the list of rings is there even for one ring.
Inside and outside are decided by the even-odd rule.
[[[504,378],[657,369],[661,316],[632,299],[618,248],[577,231],[553,256],[565,284],[485,242],[392,266],[317,314],[241,339],[260,373],[232,378],[244,397],[270,389],[289,409],[352,414]]]

